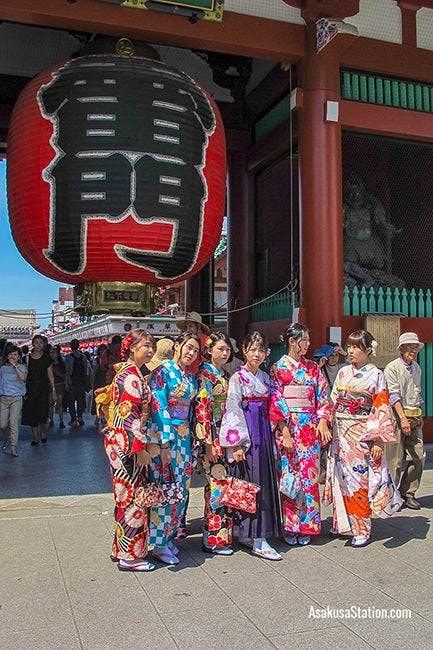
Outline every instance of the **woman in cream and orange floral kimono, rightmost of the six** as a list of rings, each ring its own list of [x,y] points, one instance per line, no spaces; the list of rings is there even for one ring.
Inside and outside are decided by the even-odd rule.
[[[402,504],[383,456],[395,432],[385,375],[370,362],[376,347],[370,332],[352,332],[351,365],[339,371],[331,395],[335,422],[324,502],[334,509],[331,534],[353,535],[355,547],[369,542],[372,512],[387,517]]]

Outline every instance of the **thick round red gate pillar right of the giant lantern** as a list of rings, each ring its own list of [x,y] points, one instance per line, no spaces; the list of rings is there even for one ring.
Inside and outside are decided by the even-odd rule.
[[[317,347],[326,341],[328,328],[341,326],[343,320],[343,206],[341,128],[326,116],[327,102],[340,100],[338,49],[331,43],[317,54],[310,21],[301,86],[300,306],[311,328],[312,347]]]

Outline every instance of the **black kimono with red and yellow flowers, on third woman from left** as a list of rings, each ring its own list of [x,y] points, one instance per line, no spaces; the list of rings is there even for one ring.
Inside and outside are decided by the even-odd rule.
[[[195,407],[195,438],[203,456],[206,476],[204,487],[203,544],[208,547],[228,546],[232,541],[232,518],[219,498],[227,477],[227,464],[219,444],[219,429],[226,403],[228,374],[211,363],[204,363],[198,377]],[[216,462],[204,458],[204,445],[213,444],[219,451]]]

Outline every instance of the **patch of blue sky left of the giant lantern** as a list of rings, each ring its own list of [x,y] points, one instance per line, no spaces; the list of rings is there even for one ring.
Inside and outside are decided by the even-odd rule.
[[[12,239],[6,200],[6,162],[0,161],[0,309],[36,309],[51,311],[57,298],[59,282],[35,271],[21,256]],[[41,325],[50,319],[39,318]]]

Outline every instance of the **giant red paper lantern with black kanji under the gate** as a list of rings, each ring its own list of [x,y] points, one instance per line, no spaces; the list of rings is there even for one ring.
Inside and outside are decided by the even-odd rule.
[[[15,105],[7,151],[13,237],[55,280],[168,284],[218,244],[221,117],[164,63],[95,55],[41,73]]]

